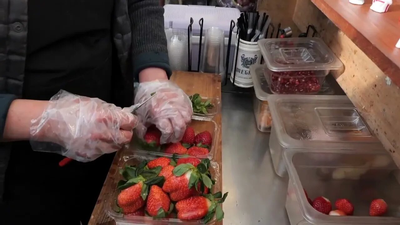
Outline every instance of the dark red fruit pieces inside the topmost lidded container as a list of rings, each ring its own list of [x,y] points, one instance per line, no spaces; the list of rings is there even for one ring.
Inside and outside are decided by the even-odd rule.
[[[312,70],[271,74],[271,90],[276,94],[314,93],[320,89],[320,81]]]

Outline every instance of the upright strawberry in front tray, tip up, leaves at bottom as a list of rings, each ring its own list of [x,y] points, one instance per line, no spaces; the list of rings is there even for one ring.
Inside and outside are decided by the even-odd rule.
[[[166,217],[170,210],[171,200],[168,195],[157,185],[150,187],[147,197],[146,211],[152,217]]]

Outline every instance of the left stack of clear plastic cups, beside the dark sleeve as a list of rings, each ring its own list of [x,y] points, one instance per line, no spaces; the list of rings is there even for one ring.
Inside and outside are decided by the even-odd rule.
[[[165,29],[165,34],[171,69],[188,71],[188,32],[167,28]]]

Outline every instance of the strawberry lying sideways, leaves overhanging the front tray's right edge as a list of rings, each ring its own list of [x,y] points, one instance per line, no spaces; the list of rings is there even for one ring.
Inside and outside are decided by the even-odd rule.
[[[181,220],[199,220],[204,218],[204,224],[210,221],[214,214],[218,221],[224,218],[224,212],[220,206],[225,201],[228,193],[218,192],[214,195],[208,194],[203,196],[193,196],[176,203],[176,211],[178,211],[178,219]],[[221,198],[222,197],[222,198]],[[216,200],[219,198],[219,200]]]

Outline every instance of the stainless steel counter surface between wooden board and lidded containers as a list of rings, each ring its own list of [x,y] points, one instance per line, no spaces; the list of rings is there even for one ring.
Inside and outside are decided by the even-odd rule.
[[[222,92],[224,225],[289,225],[288,178],[276,175],[269,133],[258,131],[252,95]]]

